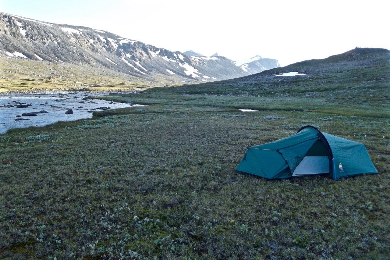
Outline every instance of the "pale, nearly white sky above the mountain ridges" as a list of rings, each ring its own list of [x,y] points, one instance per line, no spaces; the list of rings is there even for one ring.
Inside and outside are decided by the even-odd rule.
[[[390,49],[389,0],[0,0],[0,12],[106,30],[171,51],[261,55],[281,66]]]

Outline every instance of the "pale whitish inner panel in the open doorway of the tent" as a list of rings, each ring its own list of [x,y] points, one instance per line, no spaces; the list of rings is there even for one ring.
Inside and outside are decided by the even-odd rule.
[[[305,156],[293,172],[293,176],[329,173],[327,156]]]

